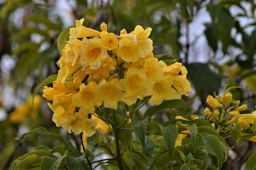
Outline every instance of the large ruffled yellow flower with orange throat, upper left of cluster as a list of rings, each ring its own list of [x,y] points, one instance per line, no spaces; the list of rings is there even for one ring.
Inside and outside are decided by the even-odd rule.
[[[100,45],[99,37],[89,40],[85,40],[81,44],[83,51],[81,53],[81,64],[83,68],[89,66],[91,70],[96,70],[101,66],[101,62],[105,60],[108,51]]]

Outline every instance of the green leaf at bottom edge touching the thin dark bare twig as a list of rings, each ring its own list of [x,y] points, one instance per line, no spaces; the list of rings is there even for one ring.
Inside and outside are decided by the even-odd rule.
[[[86,162],[86,158],[84,154],[78,158],[67,157],[67,165],[69,166],[70,169],[74,169],[74,170],[90,169],[85,162]]]

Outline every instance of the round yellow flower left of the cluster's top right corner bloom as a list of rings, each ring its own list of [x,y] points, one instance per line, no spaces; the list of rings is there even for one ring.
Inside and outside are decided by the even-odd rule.
[[[117,56],[126,62],[135,62],[140,58],[139,46],[127,38],[121,39],[117,48]]]

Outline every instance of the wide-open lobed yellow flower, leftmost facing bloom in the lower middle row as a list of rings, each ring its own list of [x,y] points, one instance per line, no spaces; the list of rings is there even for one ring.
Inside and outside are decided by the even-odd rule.
[[[82,113],[94,113],[94,106],[98,107],[102,104],[102,96],[99,93],[97,83],[94,81],[91,81],[88,85],[82,83],[80,85],[79,93],[73,96],[72,102],[75,106],[81,107],[80,109]]]

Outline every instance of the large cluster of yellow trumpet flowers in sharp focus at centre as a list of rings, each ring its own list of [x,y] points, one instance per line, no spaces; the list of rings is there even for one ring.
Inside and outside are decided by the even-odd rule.
[[[151,104],[160,104],[191,91],[181,63],[167,66],[154,58],[151,28],[138,25],[131,33],[123,29],[115,35],[105,23],[98,32],[82,26],[83,21],[76,20],[76,27],[70,28],[57,80],[53,88],[44,89],[43,96],[53,100],[48,105],[58,127],[91,136],[96,123],[87,115],[103,103],[116,110],[118,102],[131,106],[151,96]]]

